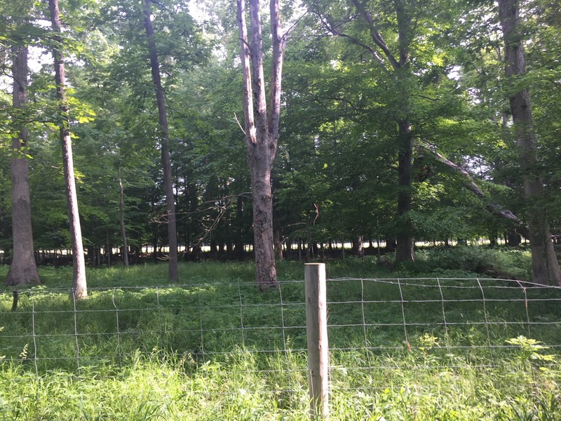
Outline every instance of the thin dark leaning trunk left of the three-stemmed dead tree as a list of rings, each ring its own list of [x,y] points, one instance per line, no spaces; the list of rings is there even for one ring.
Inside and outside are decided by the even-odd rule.
[[[165,189],[165,209],[168,214],[168,243],[170,247],[168,279],[170,281],[177,282],[179,281],[179,273],[177,272],[177,223],[175,215],[175,196],[173,194],[173,179],[171,174],[170,150],[168,145],[168,116],[165,112],[165,98],[163,96],[161,83],[158,51],[156,49],[156,40],[154,39],[154,31],[152,29],[150,15],[149,0],[144,0],[144,28],[146,29],[146,36],[148,37],[152,81],[154,83],[154,88],[156,89],[156,103],[158,105],[158,120],[160,124],[162,151],[163,186]]]

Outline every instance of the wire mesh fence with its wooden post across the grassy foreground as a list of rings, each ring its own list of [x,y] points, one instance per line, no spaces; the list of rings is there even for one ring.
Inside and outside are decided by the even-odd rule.
[[[299,419],[295,413],[309,410],[309,374],[327,380],[325,360],[323,371],[308,367],[311,343],[321,344],[324,359],[327,345],[306,336],[306,302],[313,300],[310,291],[304,299],[305,289],[304,281],[282,281],[264,293],[243,282],[90,288],[88,300],[74,302],[68,290],[32,288],[20,292],[15,312],[4,293],[0,413],[50,419],[49,410],[62,416],[74,402],[83,417],[106,414],[109,388],[138,372],[149,380],[142,388],[150,388],[150,402],[166,402],[165,410],[175,395],[164,383],[180,376],[177,396],[191,412],[234,411],[238,399],[253,399]],[[560,288],[492,279],[328,279],[323,309],[332,416],[346,405],[356,414],[350,419],[383,420],[399,411],[414,419],[407,413],[434,410],[435,403],[441,411],[479,405],[488,412],[500,404],[506,414],[521,399],[550,394],[551,405],[558,402]],[[60,404],[53,399],[55,378],[74,391]],[[109,383],[95,389],[95,381]],[[312,392],[325,387],[311,385]],[[121,393],[121,403],[132,393],[111,390]],[[104,407],[92,391],[107,393]],[[318,406],[311,408],[327,417],[325,390],[312,396]],[[222,413],[222,419],[243,417]]]

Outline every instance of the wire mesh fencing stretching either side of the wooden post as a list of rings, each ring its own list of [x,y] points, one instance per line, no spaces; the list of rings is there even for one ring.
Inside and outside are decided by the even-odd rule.
[[[70,373],[78,382],[92,373],[119,377],[139,358],[162,366],[180,361],[187,375],[231,364],[233,376],[276,378],[268,388],[247,385],[250,391],[305,394],[304,281],[281,281],[264,293],[243,282],[88,293],[74,301],[69,290],[22,290],[15,312],[8,311],[11,294],[2,295],[4,366],[32,370],[36,396],[46,373]],[[327,313],[332,392],[403,387],[405,372],[421,378],[435,370],[500,368],[528,349],[553,354],[541,366],[560,370],[557,287],[496,279],[328,279]],[[530,339],[544,348],[532,348]],[[241,359],[247,361],[232,363]]]

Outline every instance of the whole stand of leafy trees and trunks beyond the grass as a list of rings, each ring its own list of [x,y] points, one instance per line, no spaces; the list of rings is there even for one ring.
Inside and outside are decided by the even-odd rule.
[[[561,5],[0,4],[0,258],[85,265],[480,240],[561,284]],[[344,244],[351,247],[345,248]],[[558,247],[558,245],[557,245]],[[81,285],[83,282],[83,286]]]

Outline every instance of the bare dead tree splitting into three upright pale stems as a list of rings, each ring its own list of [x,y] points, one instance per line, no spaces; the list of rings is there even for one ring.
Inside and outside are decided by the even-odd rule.
[[[259,0],[250,0],[250,32],[245,25],[245,1],[238,5],[238,29],[243,74],[243,109],[245,143],[251,173],[253,201],[253,239],[255,250],[255,281],[259,288],[276,286],[276,266],[273,250],[273,194],[271,168],[278,145],[280,118],[280,86],[286,34],[280,33],[278,0],[271,0],[271,36],[273,44],[269,107],[267,107],[263,71],[262,26]],[[269,108],[269,109],[268,109]]]

